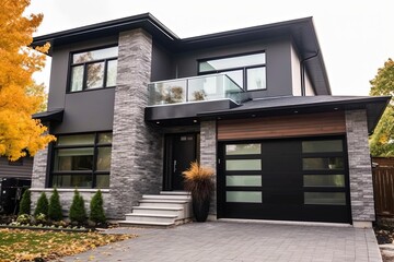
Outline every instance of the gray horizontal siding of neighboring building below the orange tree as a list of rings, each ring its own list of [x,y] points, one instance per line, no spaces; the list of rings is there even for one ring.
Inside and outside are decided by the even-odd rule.
[[[0,157],[0,178],[32,178],[33,158],[23,158],[23,165],[9,165],[7,157]]]

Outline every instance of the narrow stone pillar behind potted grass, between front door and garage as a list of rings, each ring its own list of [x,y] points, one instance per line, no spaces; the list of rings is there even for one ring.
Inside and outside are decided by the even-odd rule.
[[[217,123],[216,121],[202,121],[200,123],[200,164],[217,170]],[[213,177],[217,184],[217,176]],[[217,196],[213,193],[209,214],[217,215]]]

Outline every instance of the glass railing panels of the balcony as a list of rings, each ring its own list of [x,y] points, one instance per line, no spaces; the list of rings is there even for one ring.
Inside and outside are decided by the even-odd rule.
[[[244,91],[227,74],[154,82],[148,85],[148,106],[230,98],[240,104]]]

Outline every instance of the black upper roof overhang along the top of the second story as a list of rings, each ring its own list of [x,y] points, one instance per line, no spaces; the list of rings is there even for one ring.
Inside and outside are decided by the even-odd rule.
[[[32,46],[42,46],[45,43],[50,43],[51,47],[58,45],[68,45],[100,37],[116,36],[120,32],[136,28],[142,28],[147,31],[152,35],[152,38],[155,41],[160,43],[162,46],[166,47],[174,53],[245,41],[290,37],[300,55],[300,60],[305,60],[304,64],[316,94],[332,94],[324,59],[322,51],[320,50],[321,48],[312,17],[271,23],[181,39],[152,14],[144,13],[44,36],[37,36],[34,37]],[[49,56],[51,56],[51,51],[53,48],[49,49]]]

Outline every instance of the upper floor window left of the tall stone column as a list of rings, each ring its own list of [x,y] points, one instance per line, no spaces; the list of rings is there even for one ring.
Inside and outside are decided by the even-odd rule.
[[[69,91],[115,86],[117,56],[117,46],[72,53]]]

